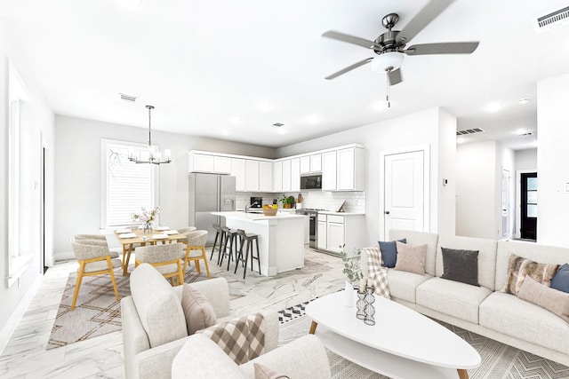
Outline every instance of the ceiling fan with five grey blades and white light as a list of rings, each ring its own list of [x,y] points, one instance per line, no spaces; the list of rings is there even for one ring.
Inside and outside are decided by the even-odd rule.
[[[477,42],[421,43],[406,47],[406,44],[409,43],[414,36],[429,25],[432,20],[435,20],[453,1],[454,0],[431,0],[401,31],[393,30],[399,20],[399,16],[397,13],[389,13],[381,19],[381,25],[387,28],[388,31],[378,36],[375,41],[369,41],[358,36],[349,36],[334,30],[325,32],[322,36],[345,43],[357,44],[366,49],[371,49],[377,54],[375,57],[366,58],[349,67],[342,68],[340,71],[328,75],[325,78],[331,80],[348,73],[354,68],[372,62],[373,71],[387,73],[389,88],[389,85],[401,83],[403,80],[400,67],[403,63],[404,54],[470,54],[475,51],[478,47]]]

